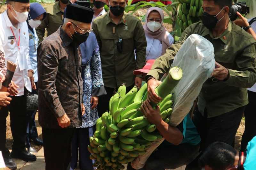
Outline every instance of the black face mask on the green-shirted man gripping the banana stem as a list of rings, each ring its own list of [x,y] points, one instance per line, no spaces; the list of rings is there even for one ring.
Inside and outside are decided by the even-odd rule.
[[[224,9],[224,7],[220,10],[220,12]],[[209,13],[207,12],[204,12],[203,13],[203,16],[202,16],[202,21],[203,21],[203,24],[206,28],[208,29],[213,29],[216,27],[216,24],[225,17],[225,15],[220,19],[218,20],[217,16],[220,14],[220,12],[217,14],[217,15],[210,15]]]

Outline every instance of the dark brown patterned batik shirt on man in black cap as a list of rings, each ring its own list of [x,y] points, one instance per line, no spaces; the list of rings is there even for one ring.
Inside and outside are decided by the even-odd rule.
[[[39,124],[59,129],[56,118],[66,113],[68,128],[81,126],[83,80],[78,46],[60,27],[39,44],[37,60]]]

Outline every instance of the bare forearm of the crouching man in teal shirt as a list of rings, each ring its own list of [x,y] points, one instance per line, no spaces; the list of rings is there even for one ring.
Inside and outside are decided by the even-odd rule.
[[[183,140],[183,135],[180,130],[176,127],[170,126],[168,123],[165,123],[163,120],[161,123],[156,125],[156,128],[168,142],[179,145]]]

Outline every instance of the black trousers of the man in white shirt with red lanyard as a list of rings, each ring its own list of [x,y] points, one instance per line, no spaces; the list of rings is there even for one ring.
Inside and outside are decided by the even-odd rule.
[[[8,158],[10,152],[5,147],[6,142],[6,117],[10,111],[11,130],[12,130],[12,150],[22,151],[25,149],[26,131],[28,125],[28,114],[26,112],[26,95],[11,96],[11,104],[2,107],[0,110],[0,151],[3,157]]]

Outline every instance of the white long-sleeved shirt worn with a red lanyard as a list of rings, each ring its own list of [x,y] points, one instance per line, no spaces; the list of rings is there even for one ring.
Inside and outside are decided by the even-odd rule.
[[[14,39],[14,35],[17,42]],[[19,33],[20,30],[20,33]],[[20,35],[20,50],[18,48],[18,41]],[[24,87],[31,92],[31,83],[28,78],[28,70],[31,69],[31,62],[29,59],[29,35],[28,35],[28,25],[27,22],[19,23],[18,28],[12,26],[12,23],[7,15],[7,11],[0,14],[0,41],[3,45],[5,52],[5,63],[11,61],[17,64],[16,70],[14,72],[12,81],[17,84],[20,88],[18,96],[24,95]]]

